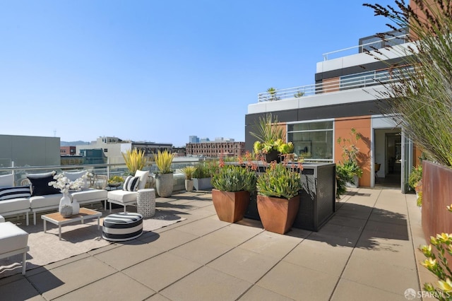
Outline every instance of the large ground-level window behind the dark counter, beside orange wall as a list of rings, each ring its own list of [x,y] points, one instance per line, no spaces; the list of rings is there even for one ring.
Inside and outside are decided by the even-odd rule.
[[[305,160],[333,162],[333,121],[287,124],[287,141]]]

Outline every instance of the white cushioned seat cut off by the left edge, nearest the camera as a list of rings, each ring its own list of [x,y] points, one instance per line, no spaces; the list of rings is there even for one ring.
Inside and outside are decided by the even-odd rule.
[[[25,275],[27,261],[28,233],[11,222],[0,223],[0,259],[23,254],[22,275]]]

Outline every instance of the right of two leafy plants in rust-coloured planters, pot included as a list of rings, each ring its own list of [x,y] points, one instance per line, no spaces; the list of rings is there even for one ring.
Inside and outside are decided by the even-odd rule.
[[[292,228],[299,208],[301,168],[270,163],[257,179],[257,209],[263,228],[285,234]]]

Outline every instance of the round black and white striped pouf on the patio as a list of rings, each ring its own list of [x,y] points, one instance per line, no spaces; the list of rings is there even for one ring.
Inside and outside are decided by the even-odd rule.
[[[133,240],[143,233],[143,216],[139,213],[121,212],[104,218],[102,237],[112,242]]]

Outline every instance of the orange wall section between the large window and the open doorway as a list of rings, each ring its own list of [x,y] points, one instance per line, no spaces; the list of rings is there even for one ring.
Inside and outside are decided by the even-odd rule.
[[[362,138],[357,141],[359,148],[359,164],[362,167],[362,177],[359,179],[359,186],[370,187],[371,168],[370,168],[370,137],[371,137],[371,118],[370,116],[360,116],[355,118],[336,118],[334,122],[335,148],[334,161],[338,163],[342,160],[342,147],[338,144],[338,138],[352,138],[350,130],[355,128]],[[353,140],[353,139],[352,139]]]

